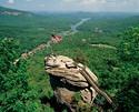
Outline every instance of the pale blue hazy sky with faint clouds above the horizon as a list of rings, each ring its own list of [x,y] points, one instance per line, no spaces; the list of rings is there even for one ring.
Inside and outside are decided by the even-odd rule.
[[[0,6],[29,11],[139,12],[139,0],[0,0]]]

